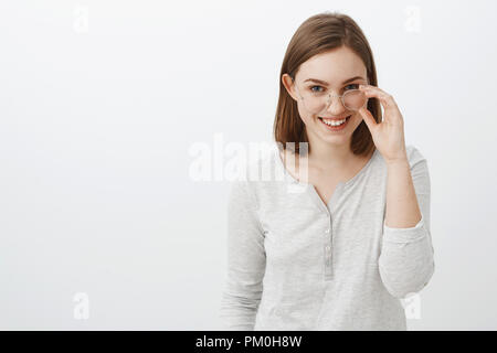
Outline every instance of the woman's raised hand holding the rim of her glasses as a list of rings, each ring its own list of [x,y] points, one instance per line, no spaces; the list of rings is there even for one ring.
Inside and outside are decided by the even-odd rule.
[[[374,146],[387,163],[406,161],[404,120],[395,100],[391,95],[376,86],[359,85],[359,89],[364,93],[367,98],[378,98],[384,110],[383,121],[377,122],[368,108],[359,109],[359,114],[371,131]]]

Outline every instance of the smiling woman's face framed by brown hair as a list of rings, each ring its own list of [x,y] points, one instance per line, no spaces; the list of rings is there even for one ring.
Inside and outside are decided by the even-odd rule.
[[[308,81],[309,78],[321,82]],[[350,78],[353,79],[349,81]],[[334,145],[349,143],[352,132],[362,121],[362,117],[358,111],[343,107],[337,95],[342,95],[349,89],[357,89],[359,84],[368,84],[366,66],[355,52],[347,46],[341,46],[310,57],[300,65],[296,74],[297,89],[295,89],[289,75],[285,74],[282,79],[289,95],[298,103],[298,113],[306,125],[309,138],[316,137]],[[330,92],[332,93],[331,103],[322,113],[308,111],[300,98],[305,94],[304,92],[307,92],[307,94],[310,92]],[[345,128],[339,131],[331,131],[321,119],[342,119],[349,116],[350,119],[348,119]]]

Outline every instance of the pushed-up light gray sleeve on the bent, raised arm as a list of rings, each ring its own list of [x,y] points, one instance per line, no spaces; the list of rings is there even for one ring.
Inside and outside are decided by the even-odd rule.
[[[388,227],[383,220],[383,240],[379,257],[380,276],[387,290],[396,298],[419,292],[435,270],[430,232],[430,173],[426,159],[411,149],[411,175],[421,211],[420,222],[410,228]]]

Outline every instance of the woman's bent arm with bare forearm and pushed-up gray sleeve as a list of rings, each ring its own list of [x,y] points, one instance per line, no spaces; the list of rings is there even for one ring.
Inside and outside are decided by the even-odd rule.
[[[388,164],[379,270],[387,290],[396,298],[420,291],[435,269],[427,162],[416,149],[412,153],[412,165],[408,159]]]

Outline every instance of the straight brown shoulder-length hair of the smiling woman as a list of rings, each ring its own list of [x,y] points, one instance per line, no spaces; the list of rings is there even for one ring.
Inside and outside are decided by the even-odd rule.
[[[274,138],[284,148],[287,142],[295,142],[295,147],[292,143],[289,146],[295,153],[298,153],[298,142],[308,142],[308,139],[305,124],[298,115],[297,101],[286,90],[282,76],[286,73],[295,81],[300,64],[316,54],[343,45],[361,57],[367,69],[368,83],[372,86],[378,85],[373,55],[368,40],[350,17],[326,11],[308,18],[292,36],[279,73],[279,98],[274,121]],[[374,120],[381,121],[379,100],[369,98],[367,107]],[[361,121],[353,131],[350,149],[355,154],[363,156],[368,156],[374,149],[371,132],[364,121]],[[310,146],[307,152],[310,152]]]

